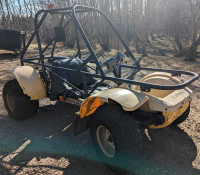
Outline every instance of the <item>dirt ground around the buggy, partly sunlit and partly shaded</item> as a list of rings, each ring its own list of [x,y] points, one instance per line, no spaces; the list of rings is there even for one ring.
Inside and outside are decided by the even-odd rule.
[[[0,174],[114,174],[98,159],[89,131],[73,135],[77,107],[44,99],[34,117],[8,117],[2,89],[12,79],[8,70],[19,64],[17,55],[0,51]],[[184,62],[170,55],[150,55],[142,64],[200,73],[200,60]],[[143,174],[200,174],[200,81],[189,87],[194,91],[189,117],[179,128],[150,131],[152,161]]]

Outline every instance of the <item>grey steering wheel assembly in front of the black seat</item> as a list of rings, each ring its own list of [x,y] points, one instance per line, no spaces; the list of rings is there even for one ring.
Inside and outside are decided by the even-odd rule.
[[[105,74],[108,74],[110,72],[113,72],[116,77],[119,77],[119,68],[123,61],[123,58],[125,57],[125,54],[122,52],[119,52],[116,57],[109,58],[107,61],[102,63],[102,67],[106,66],[107,71]]]

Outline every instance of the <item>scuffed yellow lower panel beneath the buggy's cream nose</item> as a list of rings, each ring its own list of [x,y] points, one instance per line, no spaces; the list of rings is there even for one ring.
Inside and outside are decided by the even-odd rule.
[[[173,112],[163,112],[162,115],[165,117],[165,122],[162,125],[151,125],[149,128],[151,129],[159,129],[159,128],[165,128],[169,126],[171,123],[173,123],[177,118],[179,118],[189,107],[190,101],[185,103],[182,107],[179,109],[173,111]]]

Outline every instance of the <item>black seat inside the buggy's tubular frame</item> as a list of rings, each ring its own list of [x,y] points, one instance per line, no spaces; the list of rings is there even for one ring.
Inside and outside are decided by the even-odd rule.
[[[52,96],[55,98],[58,97],[58,95],[63,94],[63,91],[66,92],[73,89],[68,83],[58,78],[55,74],[57,74],[62,79],[66,80],[67,82],[71,83],[72,85],[76,86],[77,88],[83,89],[83,76],[80,73],[65,71],[65,70],[56,68],[56,67],[62,67],[62,68],[69,68],[69,69],[77,69],[83,63],[83,61],[80,60],[79,58],[66,58],[66,59],[61,59],[61,58],[63,57],[56,57],[56,59],[54,58],[54,61],[52,62],[52,66],[54,67],[52,68],[52,75],[51,75],[51,78],[52,78],[51,90],[52,90]],[[86,66],[82,68],[82,71],[89,72]],[[92,87],[92,85],[96,83],[96,80],[93,77],[89,77],[89,76],[86,76],[86,80],[87,80],[87,86],[89,90],[90,87]],[[103,90],[107,88],[107,86],[108,85],[103,84],[102,87],[98,87],[97,90]],[[75,90],[73,89],[73,91]],[[73,93],[71,94],[72,94],[71,98],[75,98],[75,96],[80,95],[80,93],[78,92],[75,96],[73,95]]]

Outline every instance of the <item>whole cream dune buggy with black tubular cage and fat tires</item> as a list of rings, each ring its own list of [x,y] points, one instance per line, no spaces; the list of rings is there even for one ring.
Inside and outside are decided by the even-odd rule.
[[[78,16],[98,14],[110,26],[124,51],[100,61],[86,36]],[[48,15],[60,20],[54,26],[54,36],[42,45],[40,27]],[[60,17],[58,17],[60,16]],[[66,27],[73,24],[77,54],[74,57],[55,56],[55,47],[65,42]],[[39,109],[45,97],[80,106],[75,121],[75,135],[90,128],[92,140],[101,160],[110,167],[139,172],[143,149],[148,139],[145,129],[177,125],[189,114],[192,90],[189,84],[198,74],[183,70],[142,67],[109,18],[100,10],[73,6],[40,10],[34,19],[35,31],[21,51],[21,66],[12,69],[15,79],[7,82],[3,99],[13,119],[25,119]],[[37,39],[39,57],[26,58],[30,44]],[[80,38],[89,55],[82,56]],[[50,48],[51,47],[51,48]],[[51,49],[51,54],[46,51]],[[126,64],[130,59],[134,64]],[[25,65],[28,64],[28,65]],[[30,66],[32,65],[32,66]],[[140,71],[151,73],[134,80]],[[125,78],[122,72],[127,72]],[[153,72],[153,73],[152,73]],[[177,76],[190,76],[181,82]],[[109,82],[115,84],[113,87]]]

